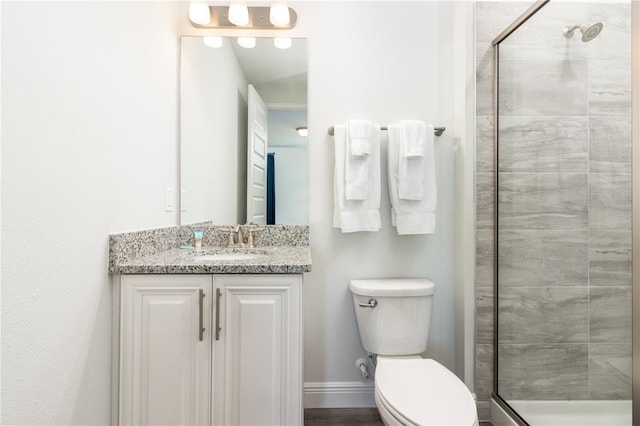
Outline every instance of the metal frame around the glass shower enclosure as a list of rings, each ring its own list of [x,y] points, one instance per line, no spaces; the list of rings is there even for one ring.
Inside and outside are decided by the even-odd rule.
[[[494,118],[494,372],[492,399],[517,424],[528,423],[498,394],[498,91],[500,43],[550,0],[537,0],[493,41]],[[631,3],[631,200],[632,200],[632,424],[640,425],[640,0]]]

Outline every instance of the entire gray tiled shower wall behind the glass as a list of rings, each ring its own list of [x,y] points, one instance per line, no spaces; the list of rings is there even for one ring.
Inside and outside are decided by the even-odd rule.
[[[491,40],[531,3],[476,5],[476,393],[493,389]],[[603,22],[590,43],[566,25]],[[501,44],[500,394],[628,399],[629,4],[551,2]]]

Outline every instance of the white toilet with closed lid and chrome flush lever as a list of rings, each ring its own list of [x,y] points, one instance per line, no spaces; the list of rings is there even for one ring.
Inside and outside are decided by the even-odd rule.
[[[435,286],[426,279],[352,280],[362,346],[377,355],[375,401],[386,425],[478,426],[466,385],[424,359]]]

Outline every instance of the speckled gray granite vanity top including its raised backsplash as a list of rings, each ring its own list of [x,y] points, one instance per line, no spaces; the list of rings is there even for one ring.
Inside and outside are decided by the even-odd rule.
[[[311,271],[307,226],[274,225],[256,237],[256,247],[225,247],[220,226],[177,226],[109,236],[113,274],[300,274]],[[201,250],[193,230],[204,231]],[[238,254],[240,256],[238,256]],[[217,255],[214,260],[202,256]],[[242,257],[242,258],[238,258]]]

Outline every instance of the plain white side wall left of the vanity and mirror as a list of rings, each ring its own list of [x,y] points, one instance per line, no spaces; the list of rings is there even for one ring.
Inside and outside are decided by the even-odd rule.
[[[2,424],[109,424],[110,232],[177,223],[183,5],[2,2]]]

